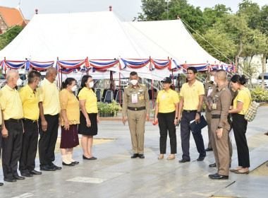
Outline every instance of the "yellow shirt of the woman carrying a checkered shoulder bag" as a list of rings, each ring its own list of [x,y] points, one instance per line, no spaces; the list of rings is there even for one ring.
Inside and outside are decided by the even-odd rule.
[[[238,112],[238,114],[245,115],[245,112],[247,112],[250,107],[250,90],[248,88],[243,88],[238,91],[238,95],[236,95],[236,98],[233,100],[233,109],[237,108],[238,102],[243,103],[243,109]]]

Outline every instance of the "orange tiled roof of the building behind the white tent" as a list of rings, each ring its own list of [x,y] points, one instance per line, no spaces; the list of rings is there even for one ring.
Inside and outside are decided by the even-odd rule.
[[[20,25],[20,26],[26,25],[23,16],[21,15],[20,11],[16,8],[7,8],[0,6],[0,13],[9,27],[13,25]]]

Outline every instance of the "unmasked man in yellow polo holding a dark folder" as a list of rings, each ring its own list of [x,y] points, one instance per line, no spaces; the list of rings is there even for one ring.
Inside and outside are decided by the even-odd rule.
[[[196,76],[197,69],[190,66],[186,74],[188,83],[183,84],[180,93],[181,100],[178,104],[178,120],[181,120],[181,147],[183,150],[183,158],[181,161],[178,161],[179,163],[190,161],[190,122],[192,120],[200,122],[205,90],[203,84],[195,79]],[[182,110],[183,114],[181,117]],[[195,145],[199,153],[197,161],[203,161],[206,156],[206,151],[201,131],[193,133],[193,138],[195,139]]]

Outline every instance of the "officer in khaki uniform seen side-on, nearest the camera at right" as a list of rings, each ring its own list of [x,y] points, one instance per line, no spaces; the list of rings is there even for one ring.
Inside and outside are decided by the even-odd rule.
[[[229,178],[229,130],[230,124],[227,119],[231,105],[231,92],[226,86],[226,71],[218,70],[214,81],[217,83],[217,90],[212,103],[212,148],[215,162],[218,168],[217,173],[209,175],[211,179],[227,180]]]

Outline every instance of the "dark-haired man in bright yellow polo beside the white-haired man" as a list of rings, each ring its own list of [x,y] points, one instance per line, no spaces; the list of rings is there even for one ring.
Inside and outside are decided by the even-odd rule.
[[[30,71],[28,85],[21,88],[20,100],[23,105],[23,148],[20,156],[20,174],[25,177],[41,175],[35,170],[35,157],[38,142],[38,118],[39,118],[39,93],[36,91],[41,82],[41,74],[38,71]]]

